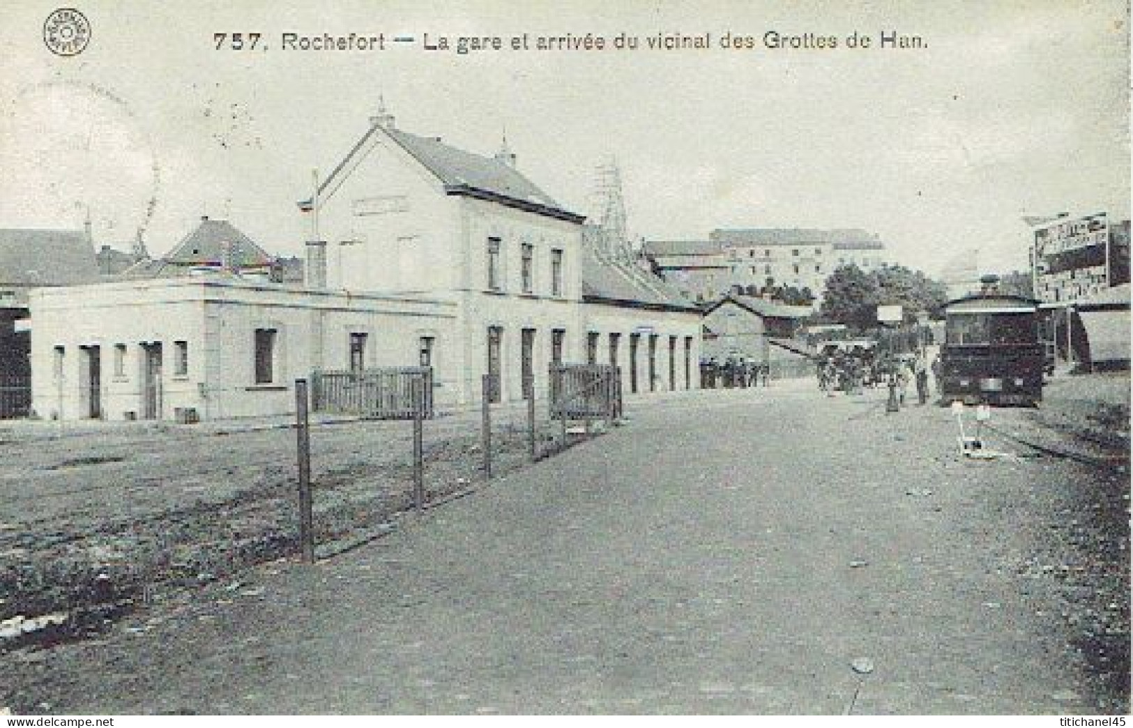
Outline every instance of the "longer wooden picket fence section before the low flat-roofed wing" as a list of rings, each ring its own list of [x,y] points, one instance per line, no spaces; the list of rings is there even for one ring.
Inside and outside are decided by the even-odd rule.
[[[373,420],[412,420],[414,388],[420,386],[421,416],[433,416],[433,369],[393,366],[316,371],[310,376],[312,409]]]

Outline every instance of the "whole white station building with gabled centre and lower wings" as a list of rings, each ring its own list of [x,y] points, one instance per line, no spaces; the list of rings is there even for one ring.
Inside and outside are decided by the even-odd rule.
[[[625,393],[699,387],[699,310],[586,236],[506,144],[474,154],[382,112],[313,193],[301,287],[229,232],[221,265],[33,291],[34,412],[281,415],[314,371],[420,364],[442,406],[479,401],[483,374],[520,399],[556,362],[616,364]]]

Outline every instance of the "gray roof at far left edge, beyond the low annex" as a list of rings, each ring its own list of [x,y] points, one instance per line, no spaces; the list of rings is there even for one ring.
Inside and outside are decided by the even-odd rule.
[[[82,230],[0,229],[0,286],[74,286],[99,280]]]

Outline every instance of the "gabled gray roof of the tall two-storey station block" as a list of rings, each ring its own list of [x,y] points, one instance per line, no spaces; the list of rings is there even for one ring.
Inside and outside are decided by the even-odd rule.
[[[352,169],[350,160],[361,151],[374,134],[378,133],[384,133],[420,162],[444,185],[448,194],[488,197],[505,204],[513,203],[531,212],[572,219],[576,222],[581,222],[583,219],[583,215],[570,212],[555,202],[514,167],[494,156],[482,156],[459,150],[443,143],[440,137],[418,136],[377,124],[363,135],[326,180],[318,186],[320,195],[324,192],[327,195],[334,194],[338,185]],[[577,220],[573,220],[576,218]]]

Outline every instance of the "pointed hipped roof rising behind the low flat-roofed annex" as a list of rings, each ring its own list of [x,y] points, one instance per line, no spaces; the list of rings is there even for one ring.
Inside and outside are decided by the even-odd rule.
[[[231,246],[225,251],[225,245]],[[157,260],[140,261],[127,269],[129,278],[164,278],[184,276],[198,265],[219,268],[228,262],[230,268],[269,268],[274,257],[228,220],[201,219],[172,251]]]

